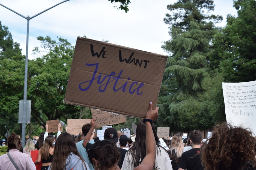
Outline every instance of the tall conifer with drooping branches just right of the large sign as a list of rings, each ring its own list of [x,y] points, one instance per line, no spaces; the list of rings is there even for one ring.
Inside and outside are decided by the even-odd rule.
[[[164,22],[171,25],[172,39],[162,48],[171,56],[159,97],[159,107],[163,108],[159,120],[172,130],[209,128],[223,119],[219,104],[205,100],[221,92],[221,76],[212,73],[209,58],[212,37],[218,33],[214,24],[222,17],[210,14],[214,10],[212,0],[179,0],[167,8],[171,14],[166,14]]]

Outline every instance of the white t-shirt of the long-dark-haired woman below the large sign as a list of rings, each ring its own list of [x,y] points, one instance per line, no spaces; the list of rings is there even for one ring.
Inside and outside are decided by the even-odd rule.
[[[172,164],[170,161],[170,157],[165,149],[160,147],[161,153],[157,152],[158,147],[156,147],[156,161],[155,161],[155,169],[159,170],[172,170]],[[132,155],[129,151],[126,152],[124,157],[124,162],[122,166],[122,170],[133,170],[135,167],[132,164]]]

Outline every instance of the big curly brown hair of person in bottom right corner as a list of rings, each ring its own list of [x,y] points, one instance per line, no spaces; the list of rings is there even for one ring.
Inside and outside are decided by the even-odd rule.
[[[218,124],[202,147],[202,165],[205,170],[252,170],[256,169],[255,153],[256,141],[250,129]]]

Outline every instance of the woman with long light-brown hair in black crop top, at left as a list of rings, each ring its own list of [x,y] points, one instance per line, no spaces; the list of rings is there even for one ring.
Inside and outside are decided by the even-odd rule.
[[[48,136],[45,138],[43,147],[39,149],[38,158],[35,161],[35,165],[41,162],[42,160],[41,170],[48,169],[48,167],[52,164],[52,158],[53,158],[53,152],[54,152],[53,142],[54,142],[54,137]]]

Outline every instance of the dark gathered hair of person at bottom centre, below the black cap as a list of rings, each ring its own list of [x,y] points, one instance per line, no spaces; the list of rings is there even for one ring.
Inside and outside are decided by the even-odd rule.
[[[111,168],[118,162],[120,157],[116,144],[108,140],[99,140],[95,142],[87,153],[92,164],[93,158],[100,162],[99,169]]]

